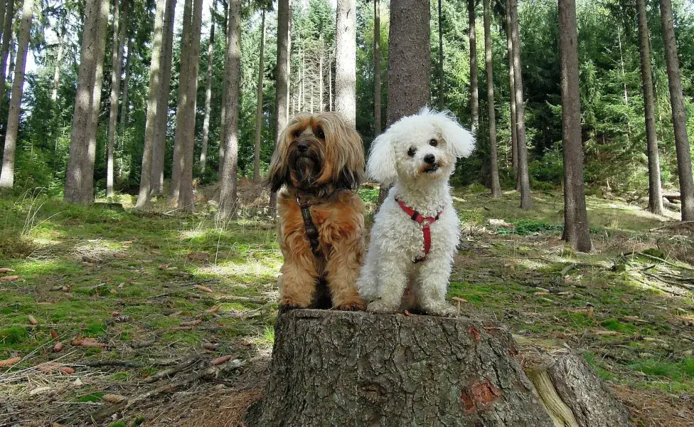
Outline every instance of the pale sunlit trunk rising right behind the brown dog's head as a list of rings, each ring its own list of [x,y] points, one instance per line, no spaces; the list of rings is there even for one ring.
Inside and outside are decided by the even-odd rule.
[[[337,0],[335,21],[335,111],[356,124],[356,1]]]

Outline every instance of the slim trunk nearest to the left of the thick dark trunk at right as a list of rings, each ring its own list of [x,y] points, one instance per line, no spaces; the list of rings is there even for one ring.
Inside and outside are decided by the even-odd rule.
[[[511,1],[511,30],[513,34],[513,79],[516,83],[516,140],[518,142],[518,181],[521,188],[521,209],[533,209],[528,175],[528,147],[525,144],[525,103],[521,66],[521,34],[518,29],[518,5]]]

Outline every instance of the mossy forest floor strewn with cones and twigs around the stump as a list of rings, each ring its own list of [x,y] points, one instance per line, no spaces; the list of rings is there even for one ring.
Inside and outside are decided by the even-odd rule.
[[[139,213],[129,196],[1,198],[0,427],[242,426],[282,255],[259,189],[241,189],[226,223],[202,196],[188,216]],[[361,194],[373,209],[377,190]],[[592,196],[594,251],[577,254],[560,240],[558,191],[536,192],[533,211],[515,191],[455,196],[461,313],[582,352],[639,426],[694,426],[694,224]]]

